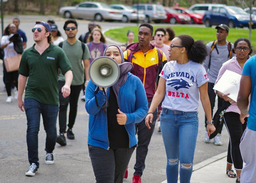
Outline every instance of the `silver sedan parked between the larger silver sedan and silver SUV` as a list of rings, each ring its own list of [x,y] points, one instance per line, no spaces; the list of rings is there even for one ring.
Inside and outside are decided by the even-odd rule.
[[[137,10],[132,8],[132,6],[122,5],[122,4],[112,4],[110,5],[113,9],[120,10],[123,14],[123,22],[137,21]],[[145,15],[143,11],[139,11],[139,21],[144,21]]]

